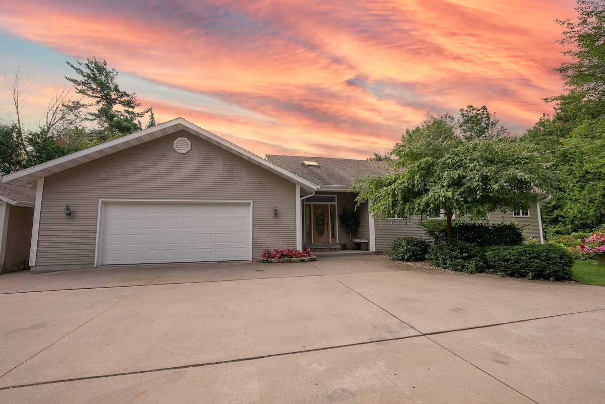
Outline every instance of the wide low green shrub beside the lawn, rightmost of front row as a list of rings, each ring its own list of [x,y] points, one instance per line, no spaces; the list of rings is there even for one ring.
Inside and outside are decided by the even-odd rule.
[[[490,272],[515,278],[563,281],[571,278],[574,258],[564,247],[555,244],[523,244],[488,249],[485,258]]]

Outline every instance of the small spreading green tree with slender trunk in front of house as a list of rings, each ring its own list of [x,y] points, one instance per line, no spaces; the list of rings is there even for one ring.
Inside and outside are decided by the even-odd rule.
[[[491,132],[477,136],[449,114],[427,116],[394,146],[387,174],[353,183],[357,203],[370,201],[379,219],[444,213],[448,241],[454,213],[481,218],[494,210],[529,209],[535,188],[550,191],[556,175],[526,142]]]

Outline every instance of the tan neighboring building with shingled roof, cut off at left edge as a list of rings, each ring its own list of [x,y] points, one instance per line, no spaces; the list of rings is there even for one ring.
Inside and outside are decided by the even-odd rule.
[[[0,273],[27,266],[35,201],[35,189],[0,183]]]

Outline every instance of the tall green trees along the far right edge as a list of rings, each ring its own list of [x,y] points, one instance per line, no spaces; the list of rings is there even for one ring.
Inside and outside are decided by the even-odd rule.
[[[576,22],[566,19],[560,44],[571,57],[555,68],[567,93],[550,97],[553,116],[525,134],[563,179],[542,207],[547,233],[590,232],[605,227],[605,2],[579,0]]]

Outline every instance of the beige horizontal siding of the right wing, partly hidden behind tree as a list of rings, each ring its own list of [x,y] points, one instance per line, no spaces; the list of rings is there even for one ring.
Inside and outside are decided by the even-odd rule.
[[[492,212],[488,215],[489,223],[517,222],[526,238],[540,239],[540,226],[538,224],[538,208],[534,203],[529,208],[529,217],[514,217],[512,212]],[[388,251],[391,242],[397,237],[428,238],[427,233],[418,226],[420,217],[412,217],[409,222],[396,220],[376,220],[374,233],[376,234],[376,251]]]

